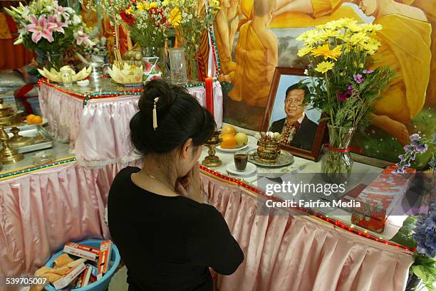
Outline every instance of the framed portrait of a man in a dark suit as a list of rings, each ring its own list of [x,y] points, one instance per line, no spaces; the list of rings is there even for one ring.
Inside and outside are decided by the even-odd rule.
[[[279,132],[282,149],[318,161],[326,122],[319,122],[319,110],[303,105],[310,94],[307,78],[302,69],[276,68],[262,131]]]

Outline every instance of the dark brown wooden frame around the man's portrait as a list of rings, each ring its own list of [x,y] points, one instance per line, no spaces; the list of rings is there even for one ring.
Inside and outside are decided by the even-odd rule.
[[[271,83],[271,89],[269,90],[269,98],[266,104],[266,110],[264,113],[264,119],[262,121],[261,130],[266,132],[269,130],[271,125],[271,118],[274,115],[274,105],[276,105],[276,95],[279,90],[279,85],[281,84],[281,78],[284,75],[297,76],[299,79],[308,78],[304,74],[304,69],[301,68],[281,68],[276,67],[274,71],[274,78]],[[303,77],[303,78],[301,78]],[[284,97],[286,98],[286,96]],[[294,154],[296,157],[302,157],[304,159],[309,159],[314,162],[318,162],[321,154],[321,149],[323,148],[324,134],[326,132],[326,121],[318,122],[318,127],[316,128],[315,137],[313,139],[313,144],[311,150],[301,149],[299,147],[285,146],[281,145],[280,148]]]

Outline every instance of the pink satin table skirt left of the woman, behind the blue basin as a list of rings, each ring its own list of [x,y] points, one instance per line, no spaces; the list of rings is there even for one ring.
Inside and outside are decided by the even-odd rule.
[[[70,240],[109,238],[103,213],[115,175],[76,162],[0,181],[0,275],[30,273]],[[0,286],[1,290],[1,286]]]

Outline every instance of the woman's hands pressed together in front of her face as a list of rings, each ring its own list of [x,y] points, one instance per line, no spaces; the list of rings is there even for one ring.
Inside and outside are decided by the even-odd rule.
[[[189,199],[204,203],[204,194],[199,179],[199,164],[195,164],[186,176],[176,181],[175,191]]]

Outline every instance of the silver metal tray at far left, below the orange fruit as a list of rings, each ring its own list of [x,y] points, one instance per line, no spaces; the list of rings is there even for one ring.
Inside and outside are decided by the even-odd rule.
[[[41,127],[41,125],[26,125],[26,127],[19,127],[21,130],[19,134],[23,137],[34,137],[36,142],[33,144],[28,144],[24,147],[17,147],[18,152],[22,154],[26,152],[35,152],[41,149],[50,149],[53,147],[53,138],[51,135]],[[11,128],[5,129],[9,137],[13,137],[14,134],[11,133]]]

